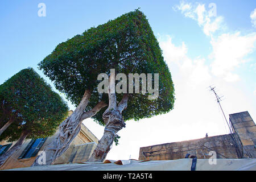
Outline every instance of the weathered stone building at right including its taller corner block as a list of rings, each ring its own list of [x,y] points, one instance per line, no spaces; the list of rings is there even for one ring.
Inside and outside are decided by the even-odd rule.
[[[256,126],[248,111],[230,114],[229,121],[230,134],[141,147],[139,160],[183,159],[187,154],[209,159],[210,151],[217,159],[256,158]]]

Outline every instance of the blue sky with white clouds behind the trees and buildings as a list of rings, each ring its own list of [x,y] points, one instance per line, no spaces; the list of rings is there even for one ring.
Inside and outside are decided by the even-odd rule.
[[[46,5],[39,16],[39,3]],[[256,119],[256,1],[64,1],[0,2],[0,84],[32,67],[38,69],[57,44],[90,27],[135,9],[147,16],[175,86],[174,109],[140,121],[127,121],[106,159],[138,159],[139,148],[228,134],[224,115],[209,90],[215,86],[229,114],[249,111]],[[40,11],[42,12],[42,11]],[[98,139],[104,127],[84,125]]]

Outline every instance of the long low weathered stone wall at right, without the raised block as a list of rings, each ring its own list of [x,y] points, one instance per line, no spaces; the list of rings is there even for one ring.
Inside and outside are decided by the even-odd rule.
[[[185,158],[186,154],[195,155],[198,159],[209,159],[216,151],[217,158],[238,158],[232,135],[219,135],[182,142],[172,142],[155,146],[141,147],[139,160],[174,160]]]

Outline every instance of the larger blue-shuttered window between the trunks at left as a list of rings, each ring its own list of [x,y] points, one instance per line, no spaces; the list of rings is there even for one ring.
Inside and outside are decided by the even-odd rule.
[[[47,138],[31,139],[30,143],[28,143],[18,159],[31,158],[33,156],[36,156],[46,139]]]

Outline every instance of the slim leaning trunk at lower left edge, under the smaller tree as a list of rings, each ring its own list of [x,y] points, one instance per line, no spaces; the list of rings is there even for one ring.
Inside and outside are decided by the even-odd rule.
[[[23,133],[20,135],[18,141],[14,144],[13,147],[11,147],[8,151],[5,152],[5,154],[2,154],[0,156],[0,166],[3,165],[3,163],[6,162],[6,160],[14,154],[19,148],[22,146],[22,143],[26,139],[27,135],[30,134],[28,131],[23,131]]]

